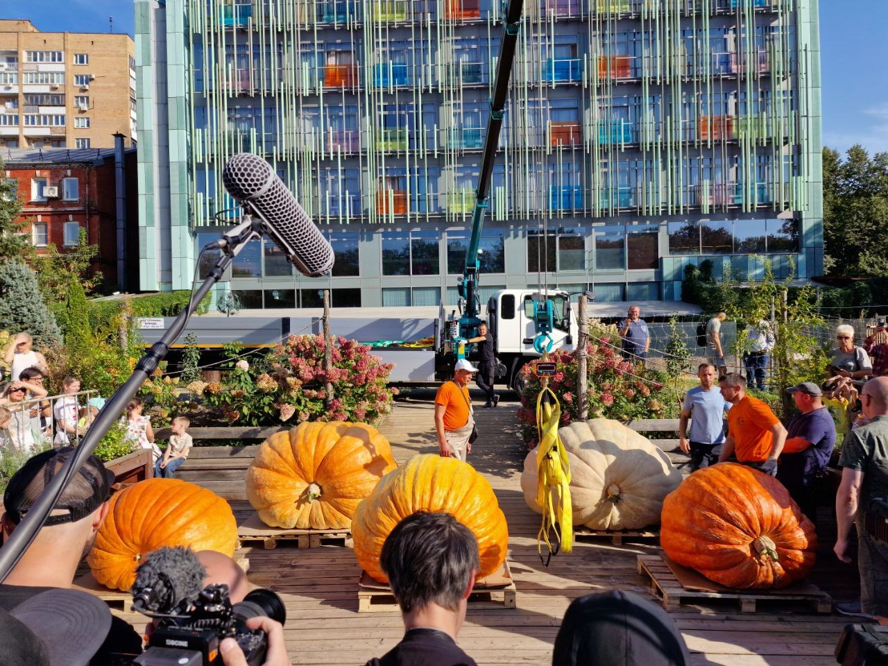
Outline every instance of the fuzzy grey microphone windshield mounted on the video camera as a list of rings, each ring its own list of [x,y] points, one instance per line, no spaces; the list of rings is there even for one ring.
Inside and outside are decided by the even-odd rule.
[[[130,590],[133,605],[151,613],[170,614],[183,601],[190,605],[197,599],[205,575],[206,569],[190,548],[158,548],[136,569],[136,582]]]

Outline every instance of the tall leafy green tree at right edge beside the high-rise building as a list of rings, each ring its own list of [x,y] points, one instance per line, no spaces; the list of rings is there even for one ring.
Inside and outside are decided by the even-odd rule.
[[[823,149],[823,244],[828,274],[888,275],[888,153]]]

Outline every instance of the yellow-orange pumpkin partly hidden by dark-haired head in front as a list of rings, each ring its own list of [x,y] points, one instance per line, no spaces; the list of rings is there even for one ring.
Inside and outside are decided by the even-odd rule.
[[[509,528],[488,480],[456,458],[425,454],[386,474],[354,514],[354,555],[377,581],[388,582],[379,566],[385,538],[416,511],[449,513],[472,530],[478,539],[480,578],[503,565]]]

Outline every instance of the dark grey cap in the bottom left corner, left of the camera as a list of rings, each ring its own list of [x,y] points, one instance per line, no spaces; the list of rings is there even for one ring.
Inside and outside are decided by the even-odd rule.
[[[0,610],[0,666],[86,666],[111,629],[105,602],[47,590]]]

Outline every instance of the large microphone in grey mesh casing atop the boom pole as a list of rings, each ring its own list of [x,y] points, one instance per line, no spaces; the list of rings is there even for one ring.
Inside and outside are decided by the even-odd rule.
[[[299,273],[320,277],[333,267],[333,248],[277,174],[258,155],[238,153],[222,170],[228,194],[265,223],[265,232]]]

